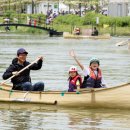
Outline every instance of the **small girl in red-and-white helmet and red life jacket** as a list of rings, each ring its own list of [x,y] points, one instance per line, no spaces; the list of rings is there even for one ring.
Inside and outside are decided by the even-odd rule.
[[[69,69],[69,89],[68,92],[75,92],[80,89],[82,85],[82,78],[78,74],[77,68],[75,66],[71,66]]]

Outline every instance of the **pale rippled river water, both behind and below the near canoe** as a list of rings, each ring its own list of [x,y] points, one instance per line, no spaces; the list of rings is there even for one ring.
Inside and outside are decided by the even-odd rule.
[[[115,44],[127,38],[110,40],[72,40],[42,35],[0,34],[0,81],[2,74],[23,47],[28,61],[44,57],[41,70],[32,71],[32,82],[44,81],[45,90],[67,90],[68,69],[76,65],[69,51],[74,49],[81,63],[88,67],[91,57],[100,59],[108,87],[130,81],[130,51]],[[79,73],[82,71],[78,67]],[[129,111],[105,109],[64,109],[41,106],[0,104],[1,130],[129,130]],[[36,108],[35,108],[36,107]],[[32,109],[33,108],[33,109]]]

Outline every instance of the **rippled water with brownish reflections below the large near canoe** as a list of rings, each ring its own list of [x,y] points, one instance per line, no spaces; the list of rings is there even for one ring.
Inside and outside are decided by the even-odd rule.
[[[36,108],[28,106],[26,109],[17,109],[16,105],[13,106],[12,104],[4,105],[0,109],[0,128],[2,130],[130,129],[129,111],[115,111],[111,109],[63,109],[44,106],[37,106]]]

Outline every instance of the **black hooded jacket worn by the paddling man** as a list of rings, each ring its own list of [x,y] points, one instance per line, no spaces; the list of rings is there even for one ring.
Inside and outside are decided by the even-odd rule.
[[[18,64],[18,59],[15,58],[12,60],[12,64],[9,66],[9,68],[6,69],[6,71],[3,74],[3,79],[6,80],[9,77],[12,76],[12,72],[15,71],[20,71],[30,63],[25,61],[24,65]],[[39,60],[37,63],[34,63],[32,66],[21,72],[19,75],[15,76],[14,78],[11,79],[11,82],[13,83],[13,86],[19,84],[19,83],[24,83],[24,82],[31,82],[31,77],[30,77],[30,70],[39,70],[42,67],[42,60]]]

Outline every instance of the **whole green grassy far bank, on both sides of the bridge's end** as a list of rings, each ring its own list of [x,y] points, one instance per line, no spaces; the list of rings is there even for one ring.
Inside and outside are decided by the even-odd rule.
[[[44,26],[46,21],[46,16],[43,14],[15,14],[6,12],[4,16],[0,17],[0,23],[3,23],[3,19],[10,17],[11,23],[13,19],[18,19],[18,23],[28,23],[28,18],[32,20],[37,20],[37,25]],[[96,24],[96,18],[99,17],[99,23]],[[55,30],[61,32],[72,32],[74,27],[79,27],[82,29],[92,29],[92,26],[96,26],[100,34],[109,33],[111,35],[117,36],[130,36],[130,17],[110,17],[97,14],[94,12],[87,13],[84,17],[79,17],[77,15],[60,15],[57,18],[53,19],[53,22],[48,25]],[[27,27],[10,27],[12,32],[15,33],[32,33],[32,34],[46,34],[46,31],[39,29],[27,28]],[[4,30],[4,27],[0,27],[0,30]]]

